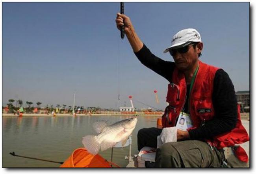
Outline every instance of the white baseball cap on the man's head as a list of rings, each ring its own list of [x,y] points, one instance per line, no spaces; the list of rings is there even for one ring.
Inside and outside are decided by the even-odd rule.
[[[167,53],[171,48],[186,47],[191,42],[202,42],[201,36],[196,29],[183,29],[173,36],[171,46],[165,49],[163,53]]]

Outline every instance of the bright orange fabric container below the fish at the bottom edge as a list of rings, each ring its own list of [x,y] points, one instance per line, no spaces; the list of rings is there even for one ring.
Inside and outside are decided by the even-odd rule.
[[[90,167],[90,168],[109,168],[111,165],[118,165],[107,161],[99,154],[90,154],[85,148],[79,148],[72,152],[71,156],[60,167]]]

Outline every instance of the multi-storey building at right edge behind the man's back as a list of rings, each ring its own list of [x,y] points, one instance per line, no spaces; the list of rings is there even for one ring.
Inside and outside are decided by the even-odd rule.
[[[237,91],[236,99],[241,106],[241,112],[250,112],[250,91]]]

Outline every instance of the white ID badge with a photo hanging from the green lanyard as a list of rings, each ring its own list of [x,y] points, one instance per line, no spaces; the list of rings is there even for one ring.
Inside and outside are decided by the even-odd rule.
[[[190,115],[185,112],[180,112],[176,127],[177,129],[186,131],[188,128],[192,127],[192,120]]]

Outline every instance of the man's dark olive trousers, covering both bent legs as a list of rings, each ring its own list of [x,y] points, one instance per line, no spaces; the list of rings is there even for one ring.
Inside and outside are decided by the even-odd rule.
[[[144,146],[156,148],[161,131],[154,127],[140,129],[138,150]],[[221,167],[224,159],[223,150],[212,149],[204,141],[186,140],[161,145],[156,150],[155,167]]]

